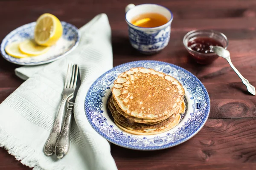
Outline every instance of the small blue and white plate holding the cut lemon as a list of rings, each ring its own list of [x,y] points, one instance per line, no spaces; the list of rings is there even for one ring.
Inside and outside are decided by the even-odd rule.
[[[9,62],[18,64],[18,65],[41,65],[48,62],[53,62],[57,59],[69,54],[79,43],[79,30],[70,23],[64,21],[61,22],[63,27],[62,37],[58,40],[55,45],[52,45],[50,50],[40,56],[35,57],[26,57],[26,58],[15,58],[6,54],[5,48],[9,43],[18,41],[22,42],[27,39],[34,39],[34,29],[36,22],[29,23],[19,28],[16,28],[10,32],[1,43],[0,51],[4,59]]]

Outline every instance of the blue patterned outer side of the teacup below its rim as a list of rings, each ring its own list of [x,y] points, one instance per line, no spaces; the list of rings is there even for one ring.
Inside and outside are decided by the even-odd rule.
[[[128,26],[131,45],[145,54],[156,53],[168,45],[171,26],[157,31],[140,31]]]

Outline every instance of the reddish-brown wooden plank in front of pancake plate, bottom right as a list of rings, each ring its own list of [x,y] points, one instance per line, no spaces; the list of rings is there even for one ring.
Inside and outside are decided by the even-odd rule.
[[[254,170],[256,119],[210,119],[192,139],[166,150],[111,146],[122,170]]]

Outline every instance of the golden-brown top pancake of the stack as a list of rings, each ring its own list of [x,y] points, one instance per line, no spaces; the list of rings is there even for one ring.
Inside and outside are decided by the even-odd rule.
[[[169,75],[148,68],[131,68],[118,76],[112,93],[124,113],[155,122],[180,108],[185,91]]]

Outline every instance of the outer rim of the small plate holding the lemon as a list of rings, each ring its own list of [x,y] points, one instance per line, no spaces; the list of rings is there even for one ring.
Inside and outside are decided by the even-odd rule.
[[[6,54],[3,54],[3,51],[5,51],[5,49],[4,49],[4,44],[6,43],[6,41],[9,40],[9,38],[10,38],[12,35],[16,34],[16,32],[19,31],[19,29],[21,29],[21,28],[23,28],[23,27],[26,28],[26,27],[28,27],[28,26],[30,26],[30,25],[32,25],[32,24],[35,24],[35,23],[36,23],[36,21],[31,22],[31,23],[24,24],[24,25],[22,25],[22,26],[19,26],[19,27],[15,28],[14,30],[12,30],[11,32],[9,32],[9,34],[7,34],[6,37],[3,38],[3,41],[1,42],[1,45],[0,45],[0,54],[1,54],[1,56],[2,56],[6,61],[9,61],[9,62],[14,63],[14,64],[17,64],[17,65],[28,65],[28,66],[29,66],[29,65],[31,66],[31,65],[47,64],[47,63],[49,63],[49,62],[53,62],[53,61],[56,61],[56,60],[58,60],[58,59],[61,59],[61,58],[65,57],[65,56],[67,56],[67,54],[70,54],[70,52],[73,51],[73,50],[79,45],[79,42],[80,42],[80,39],[81,39],[81,34],[80,34],[79,29],[78,29],[76,26],[74,26],[73,24],[71,24],[71,23],[67,23],[67,22],[65,22],[65,21],[61,21],[61,25],[62,25],[62,24],[65,24],[65,25],[67,25],[67,26],[71,26],[71,27],[76,31],[76,33],[77,33],[77,40],[76,40],[76,42],[75,42],[75,45],[73,45],[73,47],[70,48],[69,51],[66,51],[64,54],[59,55],[59,56],[57,56],[57,57],[55,57],[55,58],[48,59],[47,61],[30,62],[30,63],[20,63],[20,62],[15,62],[15,61],[9,60],[8,57],[6,57],[6,56],[7,56],[7,55],[8,55],[9,57],[12,57],[12,56],[10,56],[10,55],[7,54],[7,53],[6,53]],[[12,58],[14,58],[14,57],[12,57]]]

